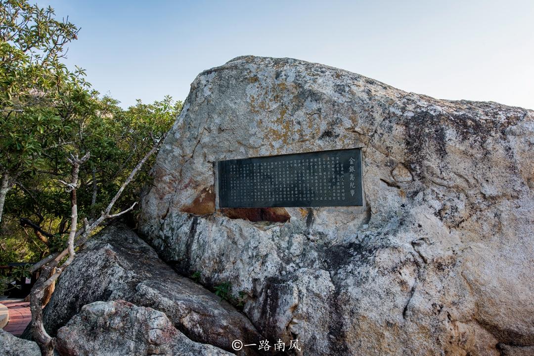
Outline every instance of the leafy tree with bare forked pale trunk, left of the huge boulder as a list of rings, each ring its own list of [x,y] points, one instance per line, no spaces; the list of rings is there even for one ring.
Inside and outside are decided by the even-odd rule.
[[[38,216],[35,222],[22,217],[20,223],[32,228],[50,253],[30,270],[41,269],[30,307],[32,334],[43,355],[53,353],[53,338],[42,324],[46,291],[73,261],[75,248],[82,246],[98,226],[135,207],[139,191],[148,180],[144,164],[159,149],[181,108],[182,102],[167,96],[153,104],[138,101],[128,110],[117,107],[111,98],[104,98],[98,101],[98,115],[95,110],[74,110],[77,126],[70,143],[51,151],[52,157],[45,159],[46,171],[15,182],[17,188],[9,201],[16,208],[10,214],[26,212]],[[68,179],[64,178],[66,175]],[[65,188],[70,200],[65,199]],[[56,228],[45,230],[43,223],[47,221],[48,226],[53,221],[59,223],[54,225]]]

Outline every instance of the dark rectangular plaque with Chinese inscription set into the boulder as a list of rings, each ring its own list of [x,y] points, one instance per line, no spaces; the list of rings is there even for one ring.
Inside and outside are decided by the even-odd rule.
[[[217,177],[221,208],[363,205],[359,148],[218,161]]]

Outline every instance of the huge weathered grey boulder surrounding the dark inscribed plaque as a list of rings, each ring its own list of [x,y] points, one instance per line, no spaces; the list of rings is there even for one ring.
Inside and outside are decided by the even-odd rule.
[[[213,187],[217,160],[354,147],[364,209],[288,208],[286,223],[184,213]],[[297,354],[497,356],[534,345],[531,110],[240,57],[194,80],[153,174],[140,220],[148,241],[201,282],[246,293],[255,326],[299,338]]]

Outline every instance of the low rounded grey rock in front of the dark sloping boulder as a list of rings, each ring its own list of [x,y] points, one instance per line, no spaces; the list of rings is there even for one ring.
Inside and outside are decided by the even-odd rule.
[[[164,313],[125,301],[84,305],[58,330],[62,355],[226,356],[232,353],[191,341]]]

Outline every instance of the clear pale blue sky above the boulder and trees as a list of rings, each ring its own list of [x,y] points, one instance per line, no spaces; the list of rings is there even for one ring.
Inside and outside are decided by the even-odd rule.
[[[534,109],[534,0],[39,0],[81,27],[69,67],[123,107],[184,100],[239,55],[347,69],[439,99]]]

